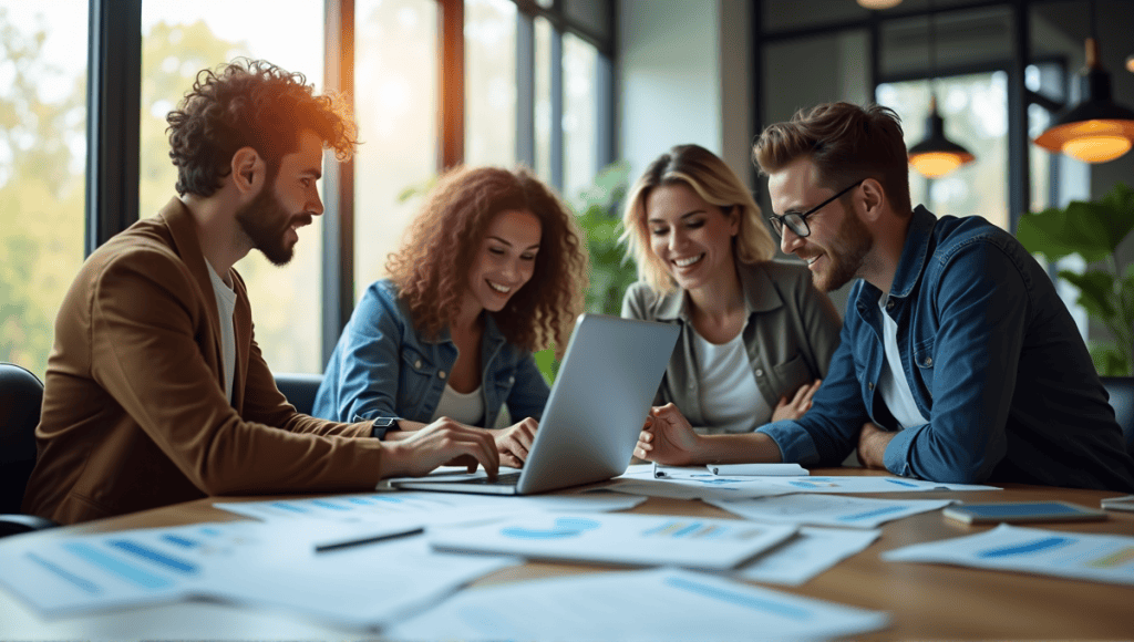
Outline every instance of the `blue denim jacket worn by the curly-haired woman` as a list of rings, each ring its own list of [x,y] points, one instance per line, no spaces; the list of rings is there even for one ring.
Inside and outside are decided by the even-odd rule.
[[[376,281],[366,288],[339,337],[312,415],[429,423],[456,361],[449,331],[433,339],[421,337],[397,286],[388,279]],[[542,416],[548,383],[532,354],[507,343],[491,314],[485,316],[481,363],[485,428],[496,425],[505,402],[515,421]]]

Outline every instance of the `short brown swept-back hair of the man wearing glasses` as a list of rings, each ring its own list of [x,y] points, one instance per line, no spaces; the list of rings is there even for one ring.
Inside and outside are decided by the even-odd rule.
[[[902,119],[888,107],[831,102],[801,109],[792,120],[764,128],[752,150],[763,175],[801,157],[815,163],[823,187],[843,189],[855,180],[873,178],[896,212],[913,211]]]

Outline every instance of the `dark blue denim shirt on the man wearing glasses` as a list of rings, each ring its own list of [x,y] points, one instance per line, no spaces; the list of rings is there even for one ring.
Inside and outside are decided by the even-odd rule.
[[[896,430],[878,392],[881,292],[855,282],[841,344],[798,421],[768,424],[785,462],[838,465],[863,423]],[[896,474],[1134,491],[1134,459],[1086,346],[1055,287],[1015,237],[979,217],[911,220],[886,313],[929,423],[886,448]]]

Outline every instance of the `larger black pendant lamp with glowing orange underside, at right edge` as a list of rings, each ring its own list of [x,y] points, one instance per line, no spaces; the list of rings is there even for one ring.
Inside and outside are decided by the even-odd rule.
[[[1099,62],[1094,39],[1094,2],[1091,2],[1091,37],[1086,39],[1086,66],[1080,71],[1080,103],[1060,113],[1055,125],[1035,138],[1051,153],[1065,153],[1083,162],[1107,162],[1134,144],[1134,110],[1110,99],[1110,74]]]

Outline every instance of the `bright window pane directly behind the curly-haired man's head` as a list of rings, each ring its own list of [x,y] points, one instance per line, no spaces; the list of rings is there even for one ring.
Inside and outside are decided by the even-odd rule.
[[[142,3],[142,126],[139,212],[153,216],[176,195],[177,170],[169,160],[166,115],[193,85],[197,71],[238,56],[261,58],[303,73],[322,88],[323,8],[289,7],[279,16],[274,0],[145,0]],[[299,231],[286,268],[253,251],[236,269],[247,282],[256,341],[277,372],[321,372],[320,263],[322,226]]]

